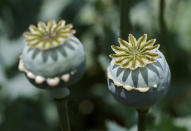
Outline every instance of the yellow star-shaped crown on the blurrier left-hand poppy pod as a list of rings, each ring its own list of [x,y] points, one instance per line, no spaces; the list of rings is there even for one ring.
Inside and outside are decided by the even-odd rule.
[[[46,25],[38,22],[38,26],[31,25],[30,32],[25,32],[26,42],[31,48],[47,50],[64,44],[64,41],[71,38],[76,32],[72,29],[72,24],[65,25],[65,20],[60,20],[56,24],[55,20],[50,20]]]

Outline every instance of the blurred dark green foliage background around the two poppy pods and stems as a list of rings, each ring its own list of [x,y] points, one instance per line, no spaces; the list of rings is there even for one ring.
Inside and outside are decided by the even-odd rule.
[[[167,96],[150,110],[148,131],[191,131],[191,1],[129,1],[128,32],[157,38],[172,72]],[[0,131],[60,130],[49,92],[17,69],[23,32],[50,19],[73,23],[87,54],[86,73],[71,87],[72,131],[135,130],[135,110],[117,103],[106,82],[110,45],[119,36],[118,0],[0,0]]]

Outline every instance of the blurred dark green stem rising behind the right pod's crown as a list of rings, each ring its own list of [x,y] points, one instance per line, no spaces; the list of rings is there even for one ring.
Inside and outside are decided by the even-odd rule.
[[[128,39],[128,34],[131,32],[130,4],[131,0],[120,0],[120,37],[124,40]]]

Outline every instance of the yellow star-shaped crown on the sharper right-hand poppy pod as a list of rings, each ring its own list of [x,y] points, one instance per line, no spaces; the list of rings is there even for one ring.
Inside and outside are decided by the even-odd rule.
[[[132,34],[129,34],[128,39],[129,42],[119,38],[120,46],[111,46],[116,54],[109,56],[114,59],[116,65],[135,70],[138,67],[145,67],[147,64],[156,62],[156,58],[159,57],[157,50],[160,47],[159,44],[154,45],[156,39],[147,41],[147,34],[144,34],[138,40]]]

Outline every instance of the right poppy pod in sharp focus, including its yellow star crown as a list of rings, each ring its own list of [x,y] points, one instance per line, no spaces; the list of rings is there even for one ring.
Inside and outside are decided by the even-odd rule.
[[[108,67],[108,87],[122,104],[134,108],[148,108],[167,93],[170,70],[164,55],[154,45],[155,39],[143,35],[137,41],[132,34],[129,42],[118,39],[120,46],[112,45],[115,54]]]

